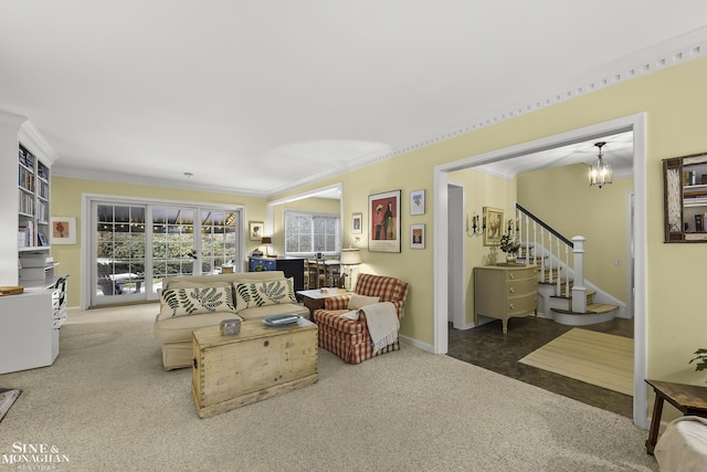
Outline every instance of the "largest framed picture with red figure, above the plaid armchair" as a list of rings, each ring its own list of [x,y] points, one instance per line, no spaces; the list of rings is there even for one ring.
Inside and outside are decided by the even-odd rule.
[[[400,190],[368,197],[368,250],[400,252]]]

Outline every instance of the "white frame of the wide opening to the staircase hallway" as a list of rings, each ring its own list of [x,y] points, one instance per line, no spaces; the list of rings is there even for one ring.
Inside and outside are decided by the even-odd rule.
[[[433,352],[446,354],[447,329],[447,272],[449,172],[472,168],[535,151],[566,146],[621,132],[633,132],[633,188],[634,204],[634,354],[633,354],[633,422],[643,429],[648,427],[647,386],[647,229],[646,229],[646,116],[645,113],[624,116],[592,126],[548,136],[489,153],[466,157],[434,167],[434,326]]]

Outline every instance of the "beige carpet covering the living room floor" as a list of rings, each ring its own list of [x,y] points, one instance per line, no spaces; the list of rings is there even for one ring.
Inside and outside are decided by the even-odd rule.
[[[191,369],[161,366],[155,313],[70,313],[53,366],[0,375],[23,390],[0,472],[657,471],[630,419],[407,343],[358,366],[319,349],[317,384],[199,419]]]

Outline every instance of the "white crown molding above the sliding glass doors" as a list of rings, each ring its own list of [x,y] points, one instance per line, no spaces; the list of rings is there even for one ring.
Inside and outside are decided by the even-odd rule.
[[[134,174],[102,172],[96,170],[76,169],[73,167],[52,168],[52,177],[66,177],[72,179],[99,180],[112,183],[126,183],[135,186],[163,187],[179,190],[204,191],[210,193],[240,195],[246,197],[266,198],[266,192],[234,189],[229,187],[215,187],[208,185],[186,183],[180,180],[156,179],[155,177],[136,176]]]

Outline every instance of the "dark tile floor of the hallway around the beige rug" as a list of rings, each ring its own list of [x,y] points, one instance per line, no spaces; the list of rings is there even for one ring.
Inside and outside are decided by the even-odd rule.
[[[615,318],[597,325],[578,326],[602,333],[633,337],[633,319]],[[538,347],[570,331],[547,318],[510,318],[504,335],[500,321],[473,329],[454,329],[450,324],[447,355],[503,374],[587,405],[633,418],[633,397],[573,380],[518,363]]]

